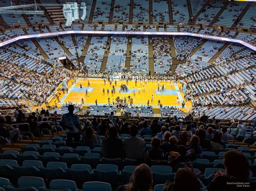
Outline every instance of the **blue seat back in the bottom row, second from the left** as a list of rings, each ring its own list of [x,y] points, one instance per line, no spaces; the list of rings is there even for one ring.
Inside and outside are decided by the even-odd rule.
[[[21,178],[18,179],[18,187],[19,188],[24,188],[24,187],[30,187],[33,186],[37,189],[39,187],[46,188],[44,179],[35,177],[35,176],[22,176]]]

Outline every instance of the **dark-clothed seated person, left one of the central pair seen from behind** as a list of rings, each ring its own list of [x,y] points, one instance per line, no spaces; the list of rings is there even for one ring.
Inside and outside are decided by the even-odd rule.
[[[109,129],[109,137],[102,140],[102,157],[105,158],[121,158],[123,152],[123,141],[117,138],[117,129]]]

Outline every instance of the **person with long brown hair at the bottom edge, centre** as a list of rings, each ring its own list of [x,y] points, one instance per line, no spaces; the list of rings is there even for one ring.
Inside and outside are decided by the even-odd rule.
[[[119,186],[116,191],[151,191],[152,185],[150,167],[146,164],[141,164],[132,173],[129,185]]]

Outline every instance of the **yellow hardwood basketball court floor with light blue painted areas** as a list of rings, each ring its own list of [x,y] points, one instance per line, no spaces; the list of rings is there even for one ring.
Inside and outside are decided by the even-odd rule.
[[[90,87],[88,87],[88,81],[90,81]],[[106,80],[106,84],[104,84],[103,79],[82,79],[79,78],[76,82],[72,84],[70,82],[68,84],[69,91],[68,94],[63,95],[62,91],[60,91],[60,104],[58,104],[58,107],[61,106],[61,104],[65,102],[72,102],[72,103],[82,103],[82,98],[84,99],[83,106],[88,105],[95,105],[95,100],[98,100],[98,105],[103,105],[108,103],[108,97],[110,98],[110,102],[112,104],[112,99],[116,100],[117,96],[120,98],[124,98],[127,96],[131,96],[133,98],[133,105],[146,105],[147,100],[150,100],[150,104],[153,106],[153,108],[159,108],[158,100],[161,101],[163,106],[176,106],[178,108],[181,108],[181,102],[183,101],[184,94],[180,92],[179,88],[181,89],[181,84],[178,82],[178,84],[174,84],[172,82],[172,85],[170,85],[170,81],[166,82],[159,82],[160,87],[165,84],[165,90],[158,93],[158,85],[157,81],[153,82],[137,82],[137,86],[135,85],[135,81],[129,81],[129,92],[128,93],[120,93],[119,87],[121,84],[126,84],[126,81],[119,81],[117,80],[117,86],[115,86],[116,93],[111,94],[112,86],[114,85],[114,81],[110,85],[110,83]],[[80,88],[80,84],[82,84],[82,88]],[[145,92],[143,92],[143,86],[145,87]],[[103,95],[103,88],[105,89],[105,95]],[[140,93],[139,89],[140,88]],[[86,91],[87,89],[87,96]],[[107,95],[107,89],[109,89],[110,93]],[[133,89],[136,91],[135,96],[133,95]],[[151,102],[151,96],[153,95],[153,101]],[[179,97],[179,102],[177,102],[177,97]],[[53,99],[50,102],[50,105],[54,104],[55,99]],[[127,99],[128,101],[128,99]],[[185,100],[184,100],[185,101]],[[192,107],[192,103],[186,102],[184,111],[190,110]]]

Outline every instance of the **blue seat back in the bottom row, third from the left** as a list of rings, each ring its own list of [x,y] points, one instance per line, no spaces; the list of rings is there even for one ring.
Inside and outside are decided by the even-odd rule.
[[[52,180],[50,182],[50,189],[66,189],[69,188],[72,191],[77,190],[76,182],[72,180]]]

